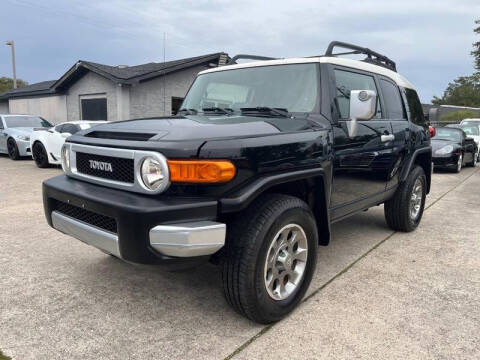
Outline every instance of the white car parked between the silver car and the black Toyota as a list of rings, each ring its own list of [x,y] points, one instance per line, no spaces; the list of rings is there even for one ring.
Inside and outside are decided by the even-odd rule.
[[[30,148],[35,164],[39,168],[49,164],[60,164],[60,153],[65,139],[80,130],[89,129],[95,125],[105,124],[108,121],[70,121],[55,125],[51,128],[35,129],[30,135]]]

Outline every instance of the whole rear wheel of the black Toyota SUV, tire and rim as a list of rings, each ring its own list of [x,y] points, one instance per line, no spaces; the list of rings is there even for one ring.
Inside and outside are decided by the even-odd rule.
[[[393,198],[385,202],[385,219],[392,230],[410,232],[417,228],[425,208],[426,184],[425,172],[416,166]]]

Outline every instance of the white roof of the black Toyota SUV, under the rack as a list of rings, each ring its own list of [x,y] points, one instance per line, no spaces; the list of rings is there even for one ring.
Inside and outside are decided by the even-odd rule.
[[[339,57],[328,57],[328,56],[319,56],[319,57],[311,57],[311,58],[292,58],[292,59],[278,59],[278,60],[262,60],[262,61],[253,61],[247,62],[242,64],[235,64],[235,65],[227,65],[227,66],[220,66],[208,70],[201,71],[201,74],[207,74],[211,72],[217,71],[225,71],[225,70],[233,70],[233,69],[245,69],[250,67],[258,67],[258,66],[273,66],[273,65],[286,65],[286,64],[308,64],[308,63],[324,63],[324,64],[335,64],[340,66],[349,67],[352,69],[364,70],[373,72],[376,74],[380,74],[386,76],[393,80],[398,86],[402,86],[405,88],[415,89],[415,87],[402,75],[399,73],[384,68],[379,65],[374,65],[370,63],[366,63],[364,61],[353,60],[353,59],[346,59],[346,58],[339,58]]]

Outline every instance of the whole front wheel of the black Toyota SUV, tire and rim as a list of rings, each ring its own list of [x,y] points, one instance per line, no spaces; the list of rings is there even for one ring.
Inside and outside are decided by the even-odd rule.
[[[227,229],[227,301],[258,323],[282,319],[302,300],[315,271],[318,233],[309,206],[292,196],[265,195]]]

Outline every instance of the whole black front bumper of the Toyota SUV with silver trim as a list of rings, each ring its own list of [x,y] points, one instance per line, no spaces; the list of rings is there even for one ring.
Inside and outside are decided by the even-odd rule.
[[[217,201],[139,195],[61,175],[43,183],[53,228],[126,261],[209,256],[225,243]]]

